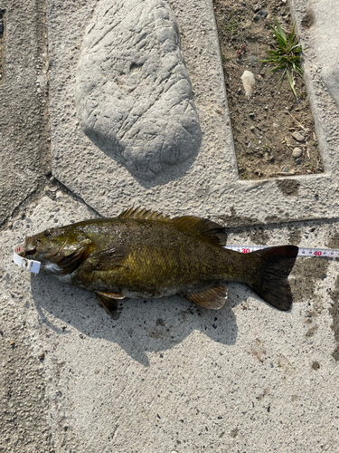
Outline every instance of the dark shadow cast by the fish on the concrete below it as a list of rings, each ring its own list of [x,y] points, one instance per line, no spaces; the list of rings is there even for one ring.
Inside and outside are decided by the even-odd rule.
[[[52,331],[68,335],[72,326],[81,335],[116,342],[145,366],[149,365],[147,352],[171,349],[193,331],[214,342],[235,344],[238,328],[232,309],[250,295],[244,285],[229,284],[231,296],[219,311],[202,309],[179,296],[126,299],[113,319],[99,306],[95,294],[62,284],[51,275],[32,277],[31,288],[41,322]]]

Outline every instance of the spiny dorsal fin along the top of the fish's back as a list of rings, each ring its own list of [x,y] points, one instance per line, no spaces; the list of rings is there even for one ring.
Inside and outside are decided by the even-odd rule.
[[[201,236],[202,239],[211,242],[218,246],[226,245],[226,231],[221,225],[218,225],[212,220],[206,218],[184,216],[174,217],[164,216],[164,214],[152,211],[151,209],[143,209],[141,207],[130,207],[122,212],[118,218],[133,218],[135,220],[153,220],[156,222],[172,223],[181,230],[190,231],[191,233]]]

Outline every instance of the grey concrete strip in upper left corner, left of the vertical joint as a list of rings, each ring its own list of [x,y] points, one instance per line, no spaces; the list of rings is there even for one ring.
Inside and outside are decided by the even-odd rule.
[[[44,185],[51,165],[47,86],[46,5],[0,1],[5,10],[0,81],[0,225]]]

